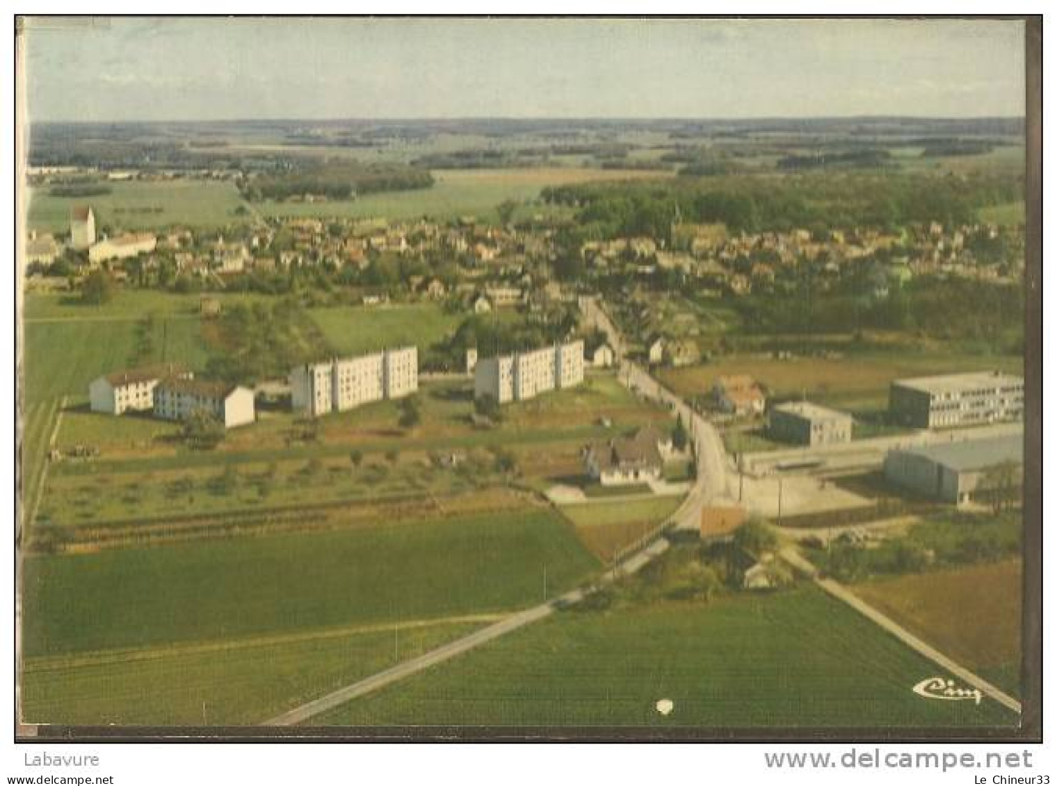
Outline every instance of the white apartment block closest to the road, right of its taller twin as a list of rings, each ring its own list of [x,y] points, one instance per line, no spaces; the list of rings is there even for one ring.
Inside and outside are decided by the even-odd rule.
[[[492,396],[499,404],[508,404],[582,381],[583,342],[571,341],[479,360],[474,375],[474,397]]]

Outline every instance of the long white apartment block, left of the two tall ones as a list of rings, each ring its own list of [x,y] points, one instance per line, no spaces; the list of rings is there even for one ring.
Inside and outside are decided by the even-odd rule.
[[[290,373],[290,386],[294,411],[311,416],[401,398],[419,390],[419,349],[298,366]]]

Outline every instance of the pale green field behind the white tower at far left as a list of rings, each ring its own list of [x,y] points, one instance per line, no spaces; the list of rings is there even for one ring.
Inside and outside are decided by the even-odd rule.
[[[52,196],[44,189],[30,190],[29,226],[52,232],[70,231],[74,205],[91,205],[96,231],[106,227],[159,229],[169,226],[215,228],[249,221],[235,209],[242,198],[231,183],[201,180],[110,183],[112,191],[98,196]]]

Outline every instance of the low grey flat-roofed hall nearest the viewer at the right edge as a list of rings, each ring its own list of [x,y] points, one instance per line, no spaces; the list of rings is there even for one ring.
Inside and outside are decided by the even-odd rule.
[[[903,488],[943,502],[964,504],[987,488],[987,473],[1009,465],[1019,474],[1023,467],[1023,433],[984,439],[890,450],[885,456],[885,478]]]

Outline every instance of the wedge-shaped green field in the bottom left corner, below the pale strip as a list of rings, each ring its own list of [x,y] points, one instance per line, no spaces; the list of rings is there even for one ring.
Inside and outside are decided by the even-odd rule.
[[[92,726],[256,725],[479,624],[339,629],[278,641],[31,658],[21,686],[23,718]]]

